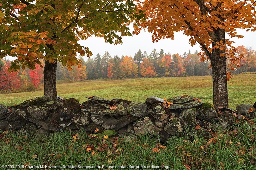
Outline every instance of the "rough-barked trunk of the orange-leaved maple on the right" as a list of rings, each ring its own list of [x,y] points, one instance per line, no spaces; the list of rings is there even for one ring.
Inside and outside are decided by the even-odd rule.
[[[220,39],[225,43],[225,30],[218,31]],[[217,42],[212,43],[212,47]],[[217,107],[229,107],[228,87],[227,87],[227,72],[226,72],[226,57],[220,56],[225,54],[225,50],[219,48],[212,49],[211,68],[213,82],[213,104]]]

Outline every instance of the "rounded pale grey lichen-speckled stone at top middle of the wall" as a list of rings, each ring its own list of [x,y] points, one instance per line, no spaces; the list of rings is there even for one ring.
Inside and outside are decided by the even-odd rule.
[[[128,105],[127,110],[132,116],[143,117],[147,110],[147,104],[142,102],[131,102]]]

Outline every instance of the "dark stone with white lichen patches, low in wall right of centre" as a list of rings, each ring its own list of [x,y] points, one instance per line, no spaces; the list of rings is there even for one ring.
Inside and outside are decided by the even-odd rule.
[[[164,126],[164,130],[170,135],[178,135],[183,131],[182,121],[178,117],[171,117]]]

